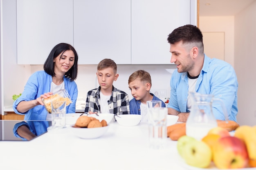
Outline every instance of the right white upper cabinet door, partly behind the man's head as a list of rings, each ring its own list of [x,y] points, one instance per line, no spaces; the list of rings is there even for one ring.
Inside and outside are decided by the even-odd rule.
[[[190,24],[190,0],[132,1],[132,64],[169,64],[167,37]]]

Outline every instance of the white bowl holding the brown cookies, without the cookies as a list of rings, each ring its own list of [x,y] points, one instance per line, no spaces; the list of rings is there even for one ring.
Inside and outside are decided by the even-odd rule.
[[[82,139],[95,139],[101,137],[108,131],[109,128],[109,125],[97,128],[77,128],[73,126],[74,124],[69,127],[70,132]]]

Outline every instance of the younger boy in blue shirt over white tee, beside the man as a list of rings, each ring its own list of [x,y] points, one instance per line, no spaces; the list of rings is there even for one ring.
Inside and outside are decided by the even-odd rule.
[[[148,100],[160,100],[154,94],[150,93],[151,77],[145,70],[133,72],[128,79],[129,89],[133,99],[130,100],[130,114],[139,114],[142,116],[141,122],[147,122],[147,105]],[[162,101],[162,107],[165,103]]]

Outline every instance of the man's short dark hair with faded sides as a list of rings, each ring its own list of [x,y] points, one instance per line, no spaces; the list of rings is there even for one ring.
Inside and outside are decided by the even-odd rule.
[[[184,25],[173,30],[168,35],[168,43],[175,44],[182,41],[183,44],[196,44],[204,52],[203,35],[200,29],[194,25]]]

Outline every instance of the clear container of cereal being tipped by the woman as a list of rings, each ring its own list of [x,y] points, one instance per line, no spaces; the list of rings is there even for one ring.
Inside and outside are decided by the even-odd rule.
[[[51,96],[48,98],[43,98],[42,99],[45,109],[49,112],[52,113],[52,106],[54,109],[60,107],[63,102],[66,102],[66,106],[70,105],[72,103],[72,100],[70,98],[70,95],[67,93],[65,89],[59,90],[55,93],[53,93]]]

